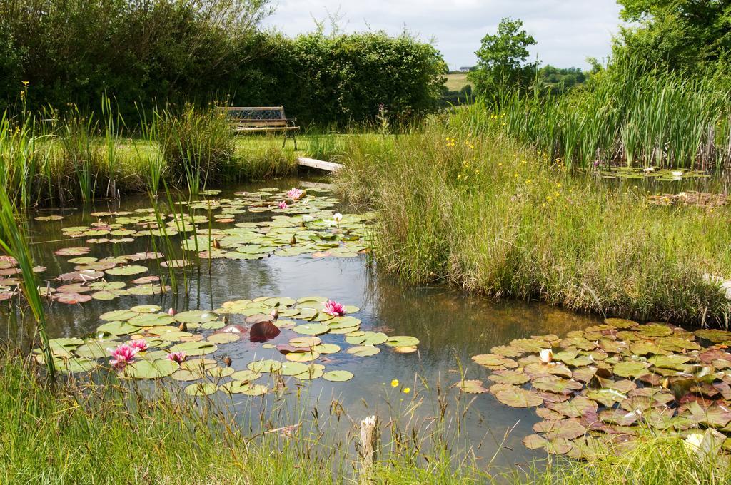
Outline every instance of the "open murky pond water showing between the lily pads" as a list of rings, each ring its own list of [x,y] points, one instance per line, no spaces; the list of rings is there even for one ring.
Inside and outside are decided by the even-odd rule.
[[[232,198],[233,194],[246,191],[257,192],[260,188],[281,188],[287,190],[293,186],[311,185],[308,181],[297,179],[279,180],[260,184],[249,184],[224,191],[211,199]],[[317,184],[316,184],[317,185]],[[327,194],[323,192],[322,194]],[[99,212],[135,211],[150,207],[150,199],[143,196],[129,197],[115,202],[96,202],[93,207],[78,210],[44,210],[37,214],[64,215],[58,221],[29,220],[32,248],[36,264],[47,267],[41,273],[44,280],[50,280],[50,286],[58,287],[60,283],[53,278],[74,270],[75,264],[69,262],[74,256],[57,256],[54,251],[61,248],[83,246],[89,237],[64,237],[61,229],[69,226],[88,226],[102,217],[91,215]],[[333,210],[346,213],[348,207],[336,206]],[[235,214],[236,223],[243,221],[267,221],[272,213]],[[109,220],[108,218],[105,220]],[[232,224],[213,223],[211,228],[230,228]],[[202,224],[201,227],[208,227]],[[107,237],[111,237],[108,236]],[[162,239],[162,238],[159,238]],[[174,238],[179,245],[181,237]],[[158,249],[162,243],[158,242]],[[103,259],[108,256],[129,255],[143,251],[154,251],[151,248],[151,237],[136,237],[130,242],[116,244],[88,244],[88,253],[82,256]],[[349,255],[352,256],[352,255]],[[180,257],[179,253],[175,257]],[[170,259],[170,258],[168,258]],[[132,276],[105,276],[105,280],[127,281],[147,275],[160,275],[167,278],[167,270],[156,267],[151,261],[132,264],[147,264],[149,272]],[[186,283],[183,284],[183,271]],[[417,411],[422,418],[431,416],[436,402],[436,384],[450,396],[455,397],[457,389],[449,386],[461,380],[459,368],[463,367],[466,379],[486,381],[487,372],[474,362],[471,356],[485,354],[494,345],[507,345],[516,338],[539,334],[564,335],[572,329],[582,329],[596,324],[591,316],[580,316],[567,313],[556,308],[540,305],[537,302],[491,302],[476,296],[462,294],[440,286],[403,286],[397,280],[379,272],[378,267],[367,253],[358,253],[355,257],[314,257],[310,253],[298,256],[272,255],[262,259],[231,260],[202,259],[200,267],[192,270],[175,270],[178,275],[180,293],[173,297],[167,294],[126,295],[109,301],[91,299],[79,304],[64,305],[53,302],[48,310],[48,332],[50,337],[81,337],[94,334],[97,326],[105,324],[99,318],[102,313],[118,309],[131,308],[134,305],[160,305],[163,309],[173,307],[178,312],[190,309],[212,310],[221,307],[224,302],[257,297],[291,297],[298,299],[311,295],[327,297],[344,305],[355,305],[360,308],[352,316],[359,318],[360,331],[385,332],[387,335],[406,335],[419,340],[417,351],[401,354],[385,345],[379,345],[382,351],[374,356],[354,356],[345,349],[350,345],[345,342],[344,335],[321,335],[323,343],[333,343],[343,351],[332,355],[321,355],[316,363],[325,364],[326,370],[347,370],[354,377],[346,382],[330,382],[322,378],[302,381],[307,388],[308,405],[319,400],[321,405],[330,405],[336,399],[354,420],[360,420],[371,414],[393,413],[393,407],[401,408],[404,402],[414,399],[414,394],[423,396],[428,404]],[[183,287],[188,286],[187,292]],[[243,315],[230,315],[228,324],[246,324]],[[282,317],[284,318],[284,317]],[[16,343],[26,342],[29,338],[27,329],[31,325],[10,324],[3,332],[4,338]],[[26,329],[26,332],[23,331]],[[212,331],[206,332],[210,334]],[[276,359],[287,362],[272,344],[287,344],[295,337],[303,337],[283,328],[281,334],[264,343],[252,343],[247,336],[231,343],[221,343],[218,349],[206,357],[221,360],[224,356],[232,359],[234,370],[245,370],[247,364],[258,359]],[[124,337],[121,339],[124,340]],[[113,346],[113,345],[111,345]],[[461,363],[461,364],[460,364]],[[431,386],[425,391],[420,383],[423,379]],[[293,381],[292,378],[288,378]],[[391,386],[391,381],[400,382],[398,388]],[[226,379],[221,379],[221,382]],[[181,382],[181,386],[189,383]],[[404,387],[413,391],[405,394]],[[401,392],[399,392],[401,391]],[[219,392],[219,394],[221,394]],[[499,443],[505,433],[512,432],[505,439],[495,463],[513,465],[526,462],[534,455],[527,450],[520,440],[531,433],[531,426],[539,421],[533,410],[515,409],[498,402],[491,394],[469,394],[464,399],[469,402],[469,412],[465,417],[462,439],[480,444],[475,451],[480,457],[493,457],[499,450]],[[191,398],[194,399],[194,398]],[[237,395],[234,405],[246,408],[252,401],[260,397]],[[516,426],[517,424],[517,426]]]

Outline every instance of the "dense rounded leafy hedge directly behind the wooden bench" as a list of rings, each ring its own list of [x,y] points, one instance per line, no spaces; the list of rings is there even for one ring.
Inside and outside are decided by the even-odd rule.
[[[374,121],[384,104],[397,124],[436,108],[447,66],[432,45],[407,34],[260,34],[247,50],[232,102],[284,104],[299,123],[348,126]]]

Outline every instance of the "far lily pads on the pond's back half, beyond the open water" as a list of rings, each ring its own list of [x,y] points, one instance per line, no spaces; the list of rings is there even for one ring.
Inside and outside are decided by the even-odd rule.
[[[205,191],[201,195],[217,196],[220,191]],[[287,200],[286,207],[279,202]],[[175,204],[175,212],[158,213],[154,208],[134,211],[91,213],[95,221],[88,226],[66,226],[64,237],[84,239],[86,245],[60,248],[53,253],[67,257],[73,264],[68,272],[49,280],[42,295],[67,305],[91,300],[112,300],[123,296],[161,294],[175,287],[167,286],[158,275],[145,275],[154,267],[180,269],[191,267],[194,261],[186,254],[201,259],[257,260],[270,256],[311,256],[313,258],[352,258],[367,250],[366,224],[374,213],[340,214],[331,207],[338,199],[327,196],[327,189],[309,191],[262,188],[254,192],[238,192],[235,198],[206,198]],[[202,214],[201,214],[202,213]],[[246,213],[270,213],[268,220],[236,222]],[[203,215],[205,214],[205,215]],[[261,217],[261,216],[260,216]],[[265,216],[263,216],[265,217]],[[38,216],[37,221],[58,221],[63,216]],[[216,224],[214,227],[213,224]],[[135,242],[140,238],[181,239],[183,259],[172,254],[151,251],[97,258],[89,256],[92,246]],[[153,248],[162,247],[153,241]],[[172,245],[166,246],[170,252]],[[37,271],[45,268],[38,267]],[[18,294],[19,272],[15,261],[0,260],[0,301]],[[107,278],[136,277],[131,285]],[[171,276],[172,278],[172,276]],[[58,286],[57,286],[58,285]],[[329,310],[333,313],[333,309]],[[335,313],[333,313],[335,315]],[[341,323],[333,329],[339,333],[352,330]],[[319,326],[301,326],[298,332],[321,332]],[[324,329],[327,331],[327,329]],[[312,334],[317,335],[317,334]]]

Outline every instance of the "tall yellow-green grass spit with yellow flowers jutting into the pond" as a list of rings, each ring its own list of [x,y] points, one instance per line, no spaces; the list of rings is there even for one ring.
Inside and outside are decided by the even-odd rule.
[[[728,208],[657,207],[569,175],[504,134],[352,142],[341,190],[379,210],[376,257],[406,280],[683,323],[725,323]]]

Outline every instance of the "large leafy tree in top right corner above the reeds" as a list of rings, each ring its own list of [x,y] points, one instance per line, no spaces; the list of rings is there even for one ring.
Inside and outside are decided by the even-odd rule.
[[[731,0],[618,0],[621,29],[615,57],[650,66],[694,69],[731,61]]]

